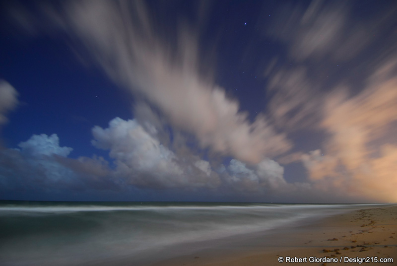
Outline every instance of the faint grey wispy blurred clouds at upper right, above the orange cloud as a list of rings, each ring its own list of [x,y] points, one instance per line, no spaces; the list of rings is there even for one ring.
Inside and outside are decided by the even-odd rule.
[[[396,8],[381,6],[363,19],[354,3],[281,4],[265,30],[266,38],[281,42],[289,55],[287,64],[281,55],[266,64],[271,123],[288,132],[316,129],[329,93],[346,84],[347,94],[361,91],[362,80],[393,53],[396,38],[388,25]]]

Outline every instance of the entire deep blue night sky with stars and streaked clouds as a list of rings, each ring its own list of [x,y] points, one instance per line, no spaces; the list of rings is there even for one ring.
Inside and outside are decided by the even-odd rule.
[[[1,1],[0,199],[397,202],[396,12]]]

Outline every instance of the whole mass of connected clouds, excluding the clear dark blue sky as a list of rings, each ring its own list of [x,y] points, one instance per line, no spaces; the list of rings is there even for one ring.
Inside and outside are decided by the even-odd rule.
[[[92,125],[107,159],[70,158],[57,134],[0,150],[1,187],[397,201],[397,6],[368,18],[353,7],[313,0],[265,14],[256,34],[279,54],[265,59],[255,117],[215,82],[216,62],[204,65],[203,24],[181,19],[169,31],[143,1],[40,2],[38,17],[10,9],[32,35],[62,32],[79,59],[131,93],[134,118]],[[17,96],[0,82],[0,125]]]

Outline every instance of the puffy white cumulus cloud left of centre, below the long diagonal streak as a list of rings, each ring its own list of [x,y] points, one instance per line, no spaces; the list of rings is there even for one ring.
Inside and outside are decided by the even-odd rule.
[[[150,125],[151,133],[157,130]],[[142,188],[216,187],[219,178],[208,161],[194,156],[179,158],[135,120],[115,118],[109,128],[94,127],[93,145],[109,150],[115,159],[115,176]]]

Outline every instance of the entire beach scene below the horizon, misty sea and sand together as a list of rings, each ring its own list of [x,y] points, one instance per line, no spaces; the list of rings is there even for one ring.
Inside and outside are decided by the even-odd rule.
[[[4,266],[320,266],[309,260],[397,257],[394,204],[7,201],[0,228]]]

